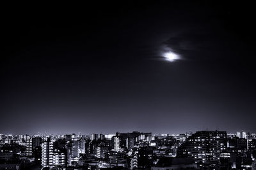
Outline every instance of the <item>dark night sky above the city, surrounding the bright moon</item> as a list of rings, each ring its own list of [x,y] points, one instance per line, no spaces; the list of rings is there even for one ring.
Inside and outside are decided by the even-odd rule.
[[[33,5],[4,7],[0,133],[255,132],[252,4]]]

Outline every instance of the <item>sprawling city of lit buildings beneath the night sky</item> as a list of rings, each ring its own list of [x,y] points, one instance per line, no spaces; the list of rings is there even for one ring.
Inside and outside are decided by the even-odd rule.
[[[2,169],[254,169],[256,134],[0,134]]]

